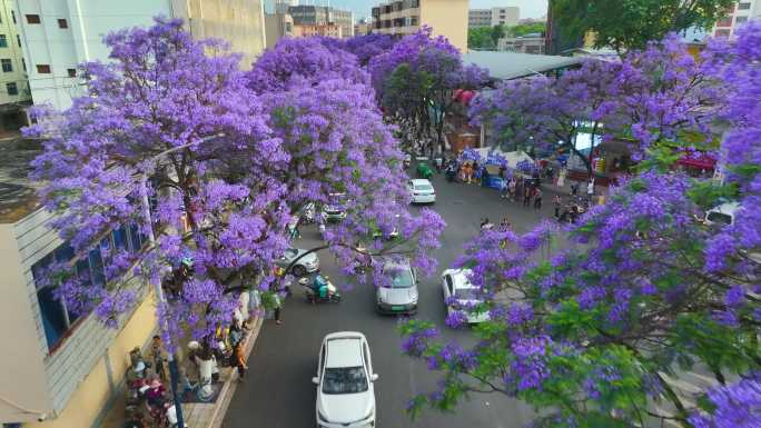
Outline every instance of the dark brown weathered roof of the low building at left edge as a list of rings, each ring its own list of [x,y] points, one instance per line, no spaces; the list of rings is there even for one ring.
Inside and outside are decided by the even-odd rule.
[[[41,151],[39,141],[21,137],[0,140],[0,225],[16,222],[39,207],[40,185],[29,179],[29,162]]]

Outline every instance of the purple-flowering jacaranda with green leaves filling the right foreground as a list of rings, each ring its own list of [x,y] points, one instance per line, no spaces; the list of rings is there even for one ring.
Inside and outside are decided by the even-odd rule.
[[[675,111],[691,132],[658,126],[630,132],[635,150],[646,148],[643,162],[567,230],[570,247],[546,256],[559,233],[550,223],[524,236],[485,232],[466,246],[455,265],[472,269],[485,302],[464,309],[488,311],[491,320],[474,327],[471,347],[442,342],[428,322],[403,327],[405,352],[443,377],[441,389],[412,401],[413,412],[453,409],[471,394],[496,391],[540,409],[535,427],[759,425],[760,46],[761,26],[747,26],[734,46],[713,46],[701,63],[709,78],[701,84],[714,86],[706,93],[729,100],[710,118],[728,127],[716,151],[725,183],[674,170],[693,133],[709,141],[716,132]],[[670,60],[678,63],[660,69],[683,69],[680,56]],[[651,106],[663,96],[651,94],[643,99]],[[722,200],[739,206],[733,223],[695,219]],[[463,321],[455,312],[446,324]],[[680,388],[676,380],[689,372],[715,387],[696,395]]]

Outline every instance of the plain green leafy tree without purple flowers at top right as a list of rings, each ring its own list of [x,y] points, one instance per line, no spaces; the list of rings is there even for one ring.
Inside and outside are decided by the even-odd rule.
[[[710,28],[727,16],[734,0],[556,0],[553,18],[564,36],[596,32],[596,48],[644,48],[669,32]]]

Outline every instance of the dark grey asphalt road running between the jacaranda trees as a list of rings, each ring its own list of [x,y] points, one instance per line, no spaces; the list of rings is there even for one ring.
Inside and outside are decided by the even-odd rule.
[[[448,268],[464,242],[478,231],[478,221],[488,217],[498,223],[508,216],[514,229],[527,230],[538,221],[540,213],[523,209],[518,203],[498,198],[495,190],[475,185],[447,183],[443,176],[434,177],[439,212],[447,228],[442,248],[436,251],[437,272]],[[543,216],[550,217],[551,195],[545,192]],[[296,242],[302,248],[318,242],[317,231],[304,228],[304,238]],[[323,271],[337,285],[346,283],[327,252],[319,253]],[[375,290],[372,286],[343,290],[340,303],[306,303],[295,292],[283,311],[284,324],[265,321],[248,361],[249,374],[237,388],[225,417],[224,428],[313,428],[315,427],[315,376],[317,352],[325,335],[340,330],[362,331],[367,336],[373,365],[379,379],[375,384],[377,426],[384,428],[518,428],[527,425],[533,411],[507,397],[490,394],[473,395],[454,412],[426,410],[411,420],[405,414],[409,398],[416,392],[431,391],[438,379],[425,365],[401,352],[398,320],[375,312]],[[438,275],[423,278],[419,285],[418,319],[441,325],[444,337],[468,341],[467,331],[453,331],[444,326],[445,308]]]

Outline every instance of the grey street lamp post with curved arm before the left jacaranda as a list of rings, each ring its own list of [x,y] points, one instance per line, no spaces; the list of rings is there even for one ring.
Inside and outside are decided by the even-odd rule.
[[[217,138],[224,137],[224,133],[217,133],[214,136],[209,137],[204,137],[198,141],[189,142],[187,145],[182,146],[177,146],[172,147],[171,149],[165,150],[155,157],[152,157],[149,161],[150,162],[158,162],[162,157],[174,153],[179,150],[187,149],[188,147],[200,145],[202,142],[208,142],[211,140],[215,140]],[[151,248],[156,247],[156,235],[154,233],[154,220],[150,217],[150,203],[148,201],[148,173],[142,172],[142,176],[140,177],[140,196],[142,199],[142,217],[144,221],[146,222],[148,227],[148,242],[150,242]],[[161,281],[159,280],[157,283],[154,283],[154,291],[156,292],[156,298],[158,299],[159,303],[165,305],[167,302],[166,297],[164,296],[164,289],[161,288]],[[159,319],[159,327],[161,330],[166,330],[166,320]],[[168,357],[168,362],[169,362],[169,378],[170,378],[170,384],[171,384],[171,395],[174,397],[175,401],[175,411],[177,411],[177,426],[179,428],[185,428],[185,418],[182,417],[182,404],[181,404],[181,397],[179,396],[177,389],[178,389],[178,379],[179,379],[179,367],[177,366],[177,358],[175,356],[175,352],[169,352]]]

